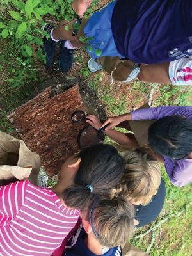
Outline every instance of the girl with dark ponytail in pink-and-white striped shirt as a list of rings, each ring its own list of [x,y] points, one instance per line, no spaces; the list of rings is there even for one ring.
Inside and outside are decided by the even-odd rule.
[[[116,186],[124,161],[111,145],[70,157],[52,189],[28,180],[0,187],[0,254],[51,255],[98,195]]]

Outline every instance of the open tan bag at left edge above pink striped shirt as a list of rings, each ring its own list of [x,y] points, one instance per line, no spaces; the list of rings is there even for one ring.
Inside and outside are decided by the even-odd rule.
[[[40,166],[40,156],[24,141],[0,131],[0,186],[26,179],[37,184]]]

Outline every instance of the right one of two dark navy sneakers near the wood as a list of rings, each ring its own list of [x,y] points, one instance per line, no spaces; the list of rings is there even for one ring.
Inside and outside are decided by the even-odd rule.
[[[72,67],[72,63],[74,63],[74,51],[78,51],[78,49],[67,49],[64,45],[65,40],[61,40],[58,66],[63,73],[70,70],[70,68]]]

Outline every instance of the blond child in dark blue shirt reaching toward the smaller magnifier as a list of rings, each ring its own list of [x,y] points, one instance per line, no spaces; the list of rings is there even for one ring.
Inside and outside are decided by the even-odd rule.
[[[97,116],[89,115],[87,118],[88,124],[99,129],[101,123]],[[124,148],[138,147],[136,140],[122,132],[108,129],[104,133]],[[135,205],[135,225],[141,227],[154,221],[159,215],[165,199],[165,184],[161,179],[160,166],[152,154],[136,148],[126,151],[123,157],[125,173],[112,195],[116,193],[125,196]]]

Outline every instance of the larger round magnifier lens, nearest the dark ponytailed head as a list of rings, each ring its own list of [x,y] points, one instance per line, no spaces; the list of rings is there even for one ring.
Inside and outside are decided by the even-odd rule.
[[[80,148],[90,147],[97,144],[98,132],[93,127],[86,127],[79,132],[77,142]]]

